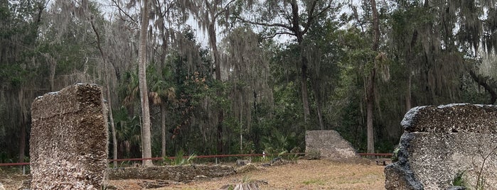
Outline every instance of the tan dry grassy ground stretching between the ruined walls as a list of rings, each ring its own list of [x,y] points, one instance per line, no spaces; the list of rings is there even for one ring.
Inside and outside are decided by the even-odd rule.
[[[167,186],[159,189],[220,189],[226,185],[254,182],[260,189],[385,189],[384,166],[336,162],[331,160],[299,160],[296,164],[257,167],[257,170],[229,177],[202,179],[186,183],[159,181]],[[142,189],[143,184],[157,181],[112,180],[117,189]],[[141,184],[141,185],[140,185]]]

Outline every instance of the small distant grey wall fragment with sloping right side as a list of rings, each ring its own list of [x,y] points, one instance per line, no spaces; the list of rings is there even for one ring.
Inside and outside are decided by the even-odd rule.
[[[306,154],[315,150],[321,152],[321,157],[333,159],[357,157],[351,143],[335,130],[307,130]]]

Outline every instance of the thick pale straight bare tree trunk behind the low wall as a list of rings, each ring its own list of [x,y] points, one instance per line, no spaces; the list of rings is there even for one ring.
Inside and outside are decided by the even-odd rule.
[[[138,53],[139,57],[139,88],[140,88],[140,99],[141,99],[141,114],[143,116],[143,124],[141,125],[142,133],[142,158],[151,158],[151,133],[150,133],[150,108],[149,108],[149,94],[146,86],[146,28],[149,26],[149,11],[148,11],[148,1],[144,0],[142,2],[141,8],[141,28],[140,28],[140,49]],[[144,167],[150,167],[154,164],[151,160],[143,160]]]

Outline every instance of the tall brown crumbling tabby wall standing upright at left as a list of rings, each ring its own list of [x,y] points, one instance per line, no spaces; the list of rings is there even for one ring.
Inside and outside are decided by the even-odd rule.
[[[75,84],[31,106],[31,189],[101,189],[107,168],[102,89]]]

